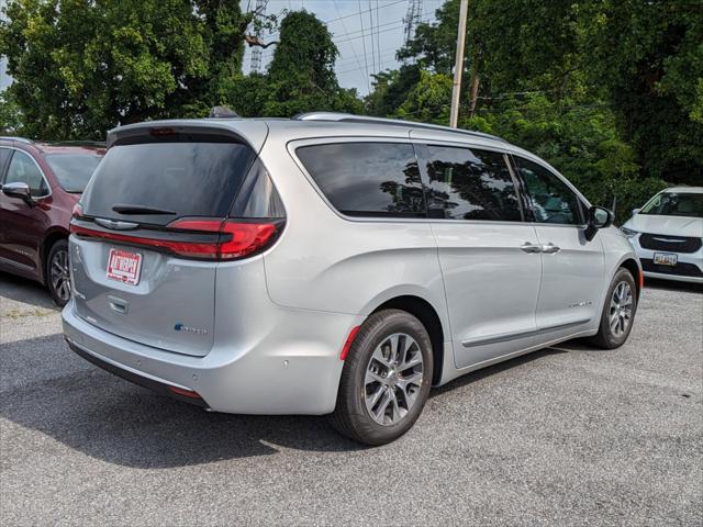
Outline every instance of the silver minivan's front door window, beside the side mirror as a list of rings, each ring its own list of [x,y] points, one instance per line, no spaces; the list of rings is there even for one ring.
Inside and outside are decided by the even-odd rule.
[[[578,197],[542,165],[515,157],[517,170],[525,182],[535,221],[560,225],[580,225],[581,209]]]

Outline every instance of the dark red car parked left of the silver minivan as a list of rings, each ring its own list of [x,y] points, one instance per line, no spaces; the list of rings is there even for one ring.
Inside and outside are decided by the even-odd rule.
[[[71,210],[103,155],[100,144],[0,137],[0,270],[45,284],[59,306]]]

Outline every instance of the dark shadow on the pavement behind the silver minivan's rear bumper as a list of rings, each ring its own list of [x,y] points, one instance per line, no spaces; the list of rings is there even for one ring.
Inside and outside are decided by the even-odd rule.
[[[364,447],[339,436],[324,417],[249,416],[209,413],[156,395],[92,367],[75,356],[60,335],[4,345],[2,377],[14,349],[42,354],[25,382],[2,383],[0,416],[38,430],[110,463],[158,469],[276,453],[279,447],[350,451]],[[42,354],[44,355],[44,354]],[[63,361],[52,375],[52,365]],[[27,372],[23,372],[26,377]],[[18,433],[3,427],[2,449],[11,451]],[[11,456],[11,455],[10,455]]]

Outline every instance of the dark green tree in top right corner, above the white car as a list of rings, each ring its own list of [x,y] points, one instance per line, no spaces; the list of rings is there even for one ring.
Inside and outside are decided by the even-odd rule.
[[[703,184],[703,5],[587,3],[581,48],[648,176]]]

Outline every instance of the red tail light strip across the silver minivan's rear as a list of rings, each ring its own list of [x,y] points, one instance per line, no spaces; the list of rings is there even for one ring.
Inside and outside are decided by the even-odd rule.
[[[236,222],[227,220],[177,220],[167,225],[169,233],[182,232],[183,239],[122,234],[77,225],[70,232],[79,236],[112,239],[125,244],[155,247],[180,256],[216,260],[235,260],[254,256],[276,239],[280,224],[272,222]],[[212,242],[188,239],[188,234],[210,234]]]

